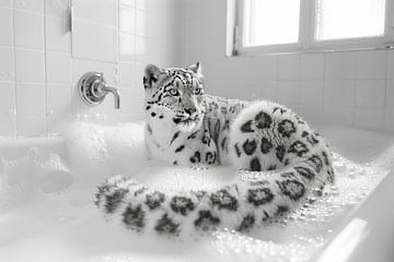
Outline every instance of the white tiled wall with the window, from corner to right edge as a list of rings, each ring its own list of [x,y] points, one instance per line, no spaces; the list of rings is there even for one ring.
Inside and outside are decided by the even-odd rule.
[[[227,0],[184,0],[183,62],[201,61],[208,93],[265,98],[312,123],[394,130],[394,51],[225,57]]]

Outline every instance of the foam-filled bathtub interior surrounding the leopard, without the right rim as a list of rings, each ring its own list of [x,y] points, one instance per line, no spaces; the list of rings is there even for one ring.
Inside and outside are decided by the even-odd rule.
[[[80,122],[62,138],[0,141],[1,261],[308,261],[394,160],[392,134],[329,124],[318,130],[332,144],[337,174],[323,196],[312,195],[253,233],[220,230],[196,239],[136,235],[107,223],[93,204],[95,187],[114,175],[172,189],[233,178],[227,167],[167,168],[148,160],[143,123]]]

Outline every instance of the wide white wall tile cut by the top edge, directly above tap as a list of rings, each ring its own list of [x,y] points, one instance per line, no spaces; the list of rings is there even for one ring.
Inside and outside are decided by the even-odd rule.
[[[73,1],[74,16],[111,26],[117,26],[116,0],[83,0]]]

